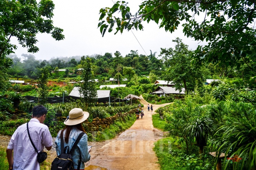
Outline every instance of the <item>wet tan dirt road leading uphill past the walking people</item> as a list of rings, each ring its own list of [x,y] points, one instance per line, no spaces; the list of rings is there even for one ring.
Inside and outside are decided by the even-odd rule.
[[[141,96],[140,96],[141,97]],[[142,98],[142,97],[141,97]],[[104,142],[88,142],[94,146],[91,151],[91,160],[86,162],[85,170],[158,170],[157,158],[153,151],[154,142],[163,137],[163,132],[155,129],[152,124],[152,114],[159,107],[166,104],[153,104],[153,112],[147,110],[147,101],[144,104],[143,119],[136,120],[126,131],[112,140]],[[150,103],[149,103],[150,104]],[[151,106],[151,104],[150,104]],[[135,116],[135,114],[134,114]],[[55,139],[53,139],[55,140]],[[10,141],[9,136],[0,135],[0,146],[6,148]],[[54,148],[54,146],[53,146]],[[56,151],[48,151],[47,162],[52,162]]]

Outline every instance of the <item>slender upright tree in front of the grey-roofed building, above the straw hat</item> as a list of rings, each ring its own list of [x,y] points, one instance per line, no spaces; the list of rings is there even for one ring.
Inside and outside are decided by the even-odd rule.
[[[81,70],[83,83],[80,84],[79,92],[83,95],[83,101],[86,107],[91,107],[97,101],[97,90],[91,69],[91,59],[88,56],[86,58],[83,56],[81,57],[81,64],[83,68]]]

